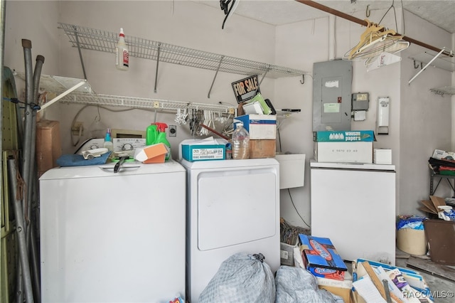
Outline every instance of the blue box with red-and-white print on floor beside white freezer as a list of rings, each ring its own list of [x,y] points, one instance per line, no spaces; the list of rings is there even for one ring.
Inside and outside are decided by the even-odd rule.
[[[306,269],[314,276],[344,280],[348,267],[330,239],[299,234],[299,245]]]

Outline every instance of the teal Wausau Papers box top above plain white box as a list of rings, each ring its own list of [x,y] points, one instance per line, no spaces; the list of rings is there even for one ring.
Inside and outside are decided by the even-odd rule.
[[[314,142],[373,142],[373,130],[334,130],[313,132]]]

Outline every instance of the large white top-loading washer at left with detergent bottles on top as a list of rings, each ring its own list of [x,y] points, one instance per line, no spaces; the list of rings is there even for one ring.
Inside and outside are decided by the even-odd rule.
[[[186,171],[62,167],[40,179],[43,302],[169,302],[185,292]]]

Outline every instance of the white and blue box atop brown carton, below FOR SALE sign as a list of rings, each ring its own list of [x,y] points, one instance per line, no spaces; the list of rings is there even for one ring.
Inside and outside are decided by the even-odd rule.
[[[243,127],[250,134],[250,139],[277,139],[277,116],[276,115],[243,115],[234,118],[236,122],[242,122]]]

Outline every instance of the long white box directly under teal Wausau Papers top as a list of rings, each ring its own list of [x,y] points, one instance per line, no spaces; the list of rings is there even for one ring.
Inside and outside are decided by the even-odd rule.
[[[373,163],[373,142],[314,142],[318,162]]]

